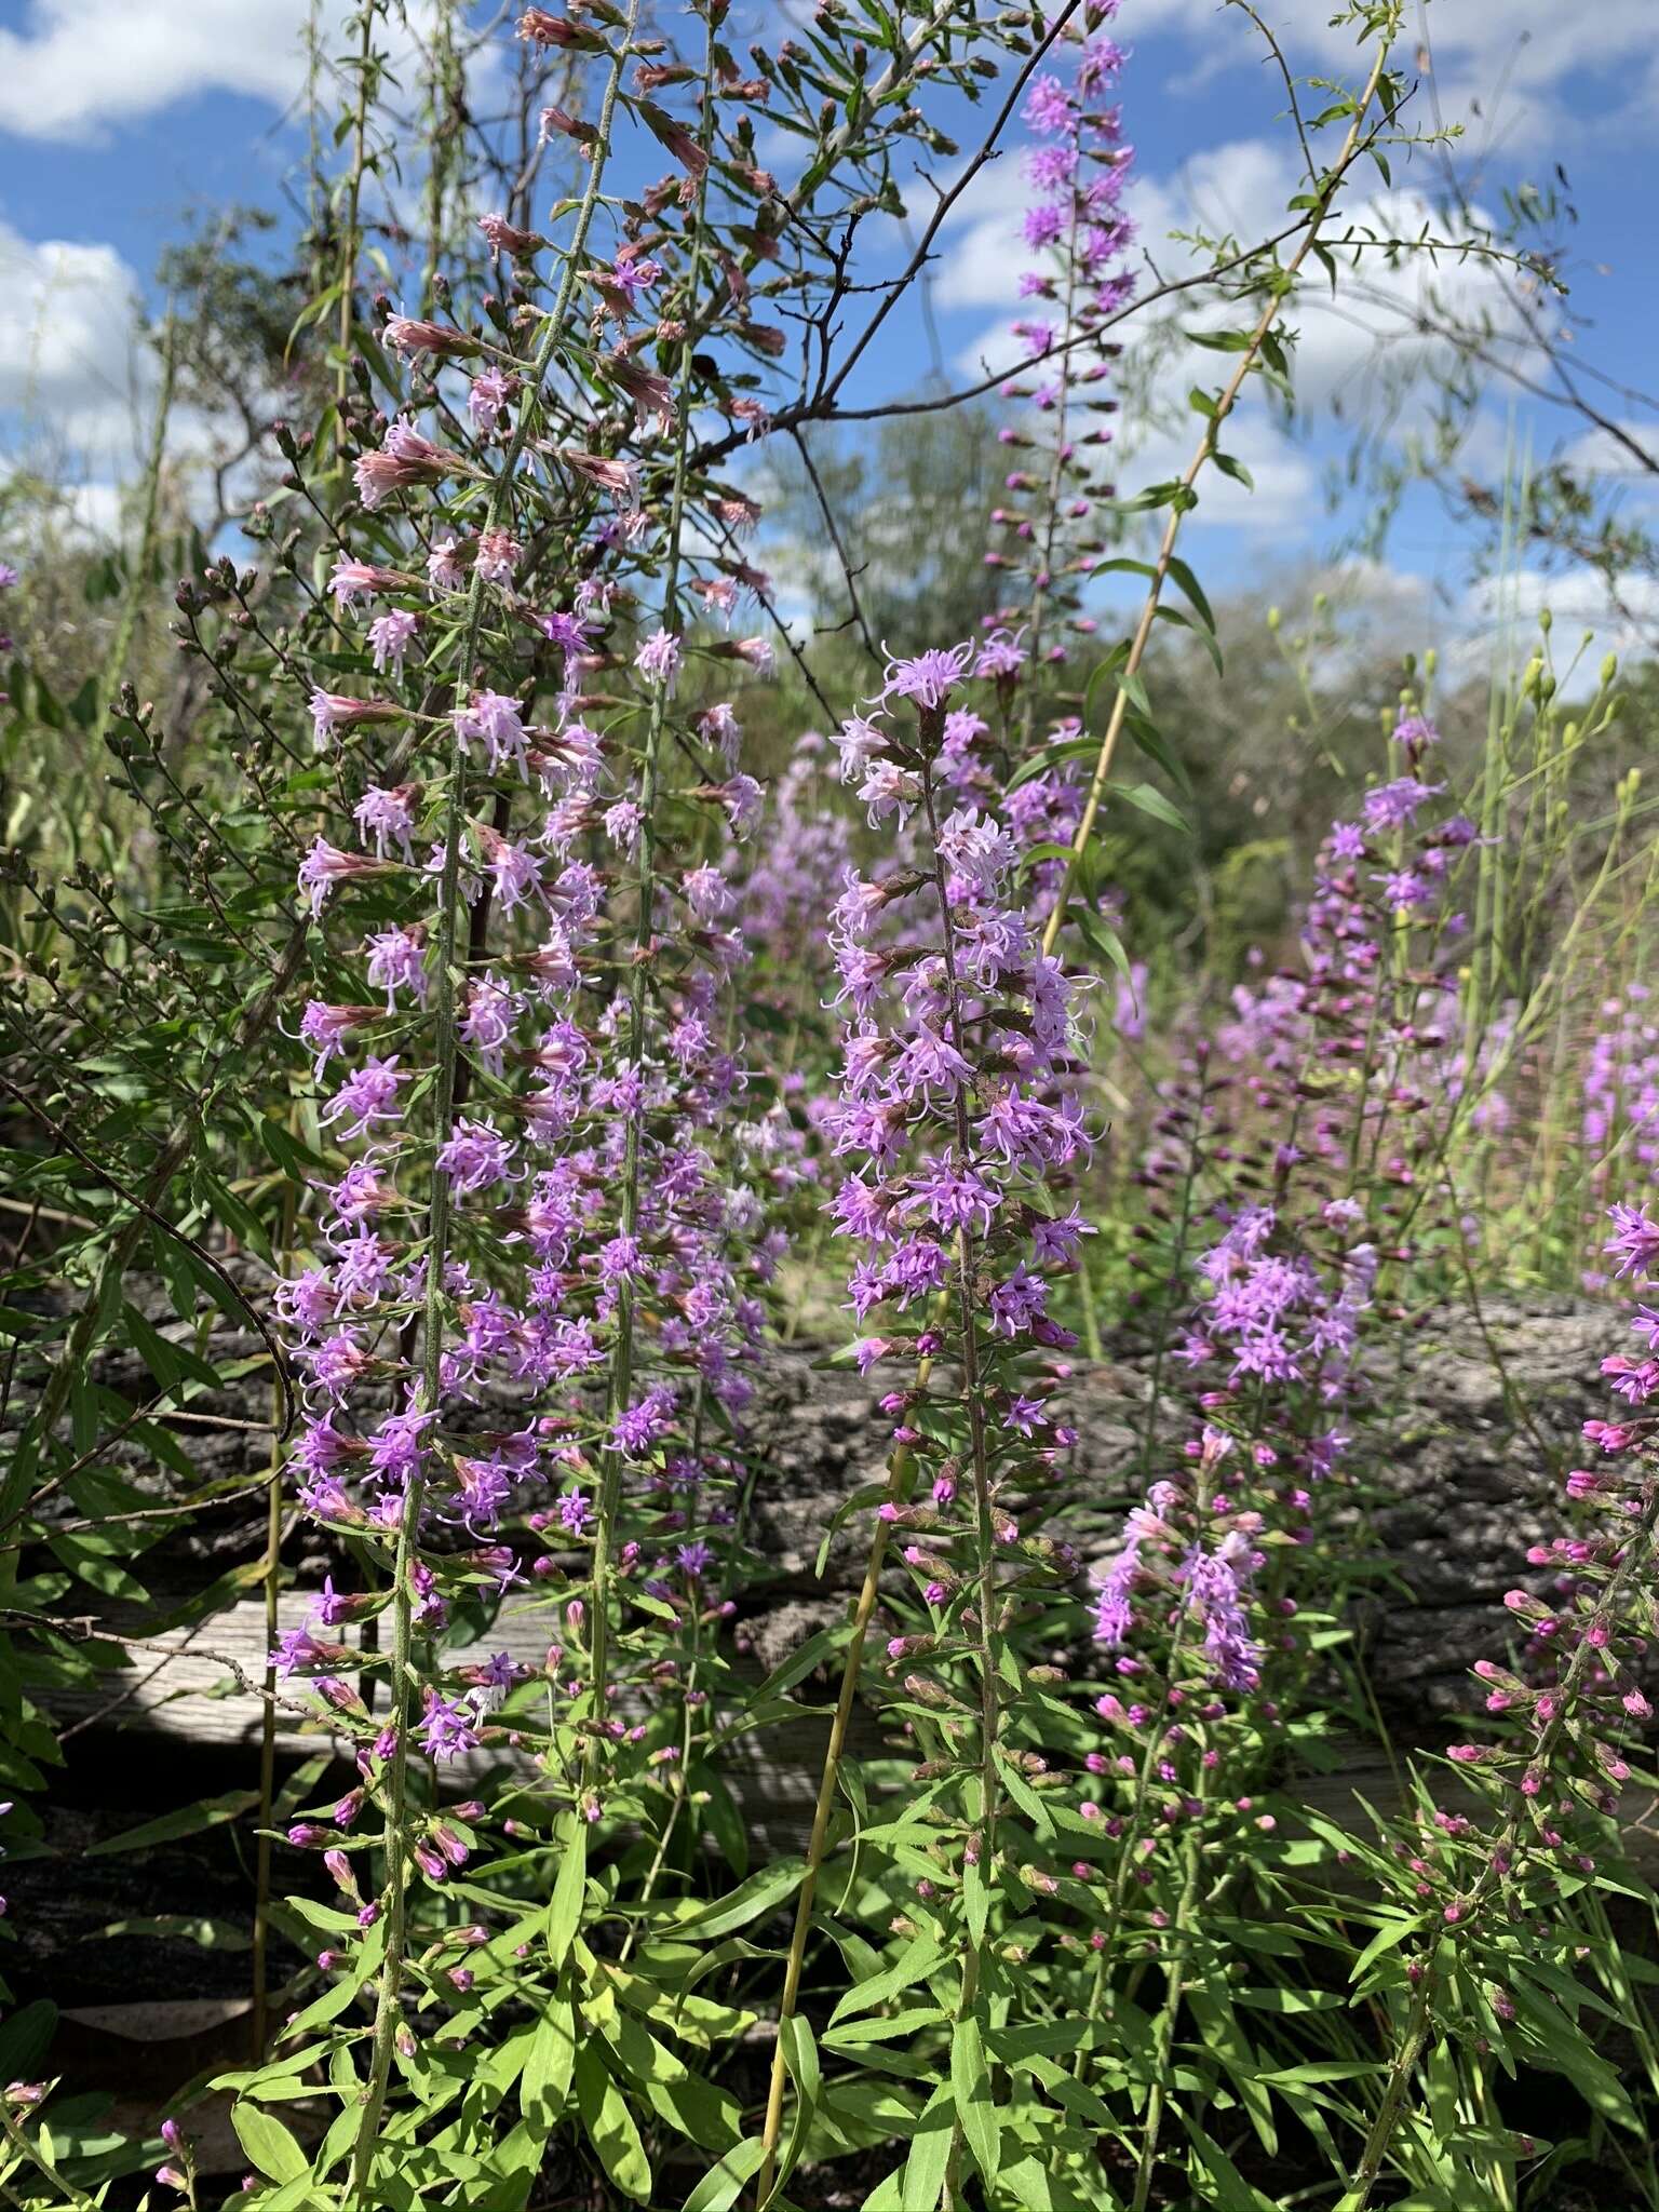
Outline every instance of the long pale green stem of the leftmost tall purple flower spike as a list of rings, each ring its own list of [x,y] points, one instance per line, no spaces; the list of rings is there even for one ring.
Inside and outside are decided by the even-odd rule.
[[[628,0],[628,18],[622,40],[611,55],[611,73],[606,77],[604,97],[599,104],[599,128],[593,146],[593,161],[588,166],[588,184],[582,195],[582,206],[577,210],[575,228],[571,232],[571,246],[564,261],[564,272],[560,276],[560,290],[555,294],[553,307],[549,312],[546,325],[535,347],[535,356],[526,372],[526,394],[520,409],[520,418],[513,427],[513,436],[502,456],[500,473],[495,476],[495,487],[489,502],[491,526],[500,529],[511,515],[513,500],[513,473],[518,469],[520,456],[529,440],[531,420],[540,403],[542,380],[553,363],[553,354],[564,336],[564,325],[575,299],[575,288],[582,272],[582,254],[588,241],[588,228],[593,223],[593,212],[599,204],[599,179],[604,177],[606,157],[611,153],[611,128],[615,122],[617,91],[622,84],[622,71],[633,46],[633,29],[639,13],[639,0]],[[456,684],[465,686],[471,677],[471,668],[478,655],[478,644],[484,628],[484,606],[489,586],[484,575],[473,568],[469,595],[467,595],[467,617],[462,624],[460,650],[456,655]],[[456,942],[458,942],[458,905],[460,905],[460,838],[467,818],[467,748],[456,737],[451,770],[449,770],[449,794],[445,803],[445,838],[442,838],[442,878],[438,889],[438,978],[434,991],[434,1057],[436,1057],[436,1082],[434,1082],[434,1108],[431,1126],[436,1144],[442,1144],[449,1133],[451,1099],[456,1086]],[[440,1371],[442,1371],[442,1307],[445,1307],[445,1254],[449,1248],[449,1177],[434,1168],[431,1172],[431,1210],[427,1219],[427,1290],[422,1310],[422,1367],[420,1367],[420,1396],[418,1409],[422,1413],[436,1413],[440,1400]],[[431,1449],[431,1447],[427,1447]],[[409,1809],[409,1701],[414,1690],[414,1677],[409,1666],[411,1650],[411,1615],[414,1615],[414,1593],[409,1584],[409,1571],[414,1566],[416,1537],[420,1531],[420,1509],[425,1504],[425,1478],[420,1462],[409,1478],[403,1495],[403,1515],[398,1520],[398,1542],[394,1557],[394,1586],[392,1586],[392,1772],[387,1778],[385,1798],[385,1962],[380,1966],[380,1986],[376,1995],[374,2013],[374,2046],[369,2055],[369,2079],[363,2090],[363,2117],[358,2121],[356,2143],[352,2148],[352,2181],[347,2188],[347,2205],[367,2203],[369,2172],[374,2166],[374,2152],[378,2148],[380,2135],[380,2112],[385,2110],[387,2084],[392,2079],[392,2051],[398,2022],[403,2017],[403,1964],[407,1944],[407,1887],[409,1887],[409,1863],[407,1863],[407,1809]]]

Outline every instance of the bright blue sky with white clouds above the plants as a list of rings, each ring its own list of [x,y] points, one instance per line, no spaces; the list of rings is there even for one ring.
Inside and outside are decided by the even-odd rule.
[[[739,0],[739,11],[745,4],[776,31],[772,0]],[[345,11],[341,0],[327,7],[334,20]],[[1327,29],[1329,0],[1265,0],[1263,13],[1298,73],[1347,69],[1352,35],[1338,40]],[[150,294],[161,246],[190,217],[210,221],[232,201],[283,206],[301,155],[294,102],[303,15],[305,0],[126,0],[119,11],[106,0],[0,0],[0,274],[13,303],[0,334],[0,465],[7,447],[15,456],[27,438],[51,431],[86,478],[91,515],[113,511],[111,484],[133,451],[142,411],[124,303],[135,290]],[[1648,372],[1659,349],[1655,0],[1597,0],[1590,9],[1564,0],[1425,0],[1418,31],[1442,115],[1467,122],[1460,159],[1473,170],[1482,206],[1495,208],[1504,188],[1526,179],[1551,181],[1557,161],[1566,168],[1579,210],[1573,307],[1588,316],[1577,349],[1613,378],[1597,392],[1606,411],[1655,427],[1650,411],[1615,389],[1659,385],[1659,372]],[[1141,243],[1177,270],[1181,250],[1168,232],[1194,212],[1208,228],[1237,228],[1241,237],[1274,228],[1296,188],[1294,148],[1283,88],[1241,11],[1212,0],[1126,0],[1117,33],[1133,49],[1121,100],[1137,148],[1130,206]],[[1429,122],[1427,97],[1418,119]],[[1396,164],[1394,181],[1396,197],[1374,212],[1405,223],[1418,210],[1413,195],[1431,190],[1433,177],[1418,159]],[[933,294],[956,374],[971,374],[987,354],[995,363],[1022,259],[1013,243],[1022,199],[1011,148],[973,184],[942,239]],[[925,204],[918,188],[916,206]],[[1400,310],[1420,283],[1420,274],[1398,276],[1380,305],[1336,316],[1310,310],[1303,378],[1314,407],[1305,429],[1285,438],[1252,409],[1230,442],[1256,473],[1256,498],[1230,491],[1201,511],[1194,529],[1203,571],[1219,588],[1325,557],[1358,520],[1352,504],[1332,515],[1321,500],[1325,465],[1345,438],[1325,403],[1338,396],[1349,416],[1374,405],[1367,363],[1378,330],[1398,334]],[[1471,272],[1444,283],[1475,299],[1489,279]],[[907,389],[920,358],[916,325],[896,316],[887,343],[872,349],[858,396]],[[1208,356],[1203,365],[1212,363]],[[1540,453],[1579,449],[1582,425],[1493,383],[1471,465],[1498,473],[1513,442]],[[1126,478],[1170,473],[1188,445],[1186,427],[1155,436],[1150,451],[1126,465]],[[1582,447],[1582,458],[1610,460],[1595,445]],[[1626,493],[1641,495],[1641,487]],[[1407,619],[1444,626],[1480,615],[1467,584],[1467,544],[1427,491],[1407,500],[1387,575],[1374,584],[1398,597]],[[1528,591],[1537,595],[1542,584],[1524,582],[1522,599]],[[1566,577],[1551,591],[1557,606],[1608,630],[1588,586]],[[1617,628],[1608,635],[1617,637]]]

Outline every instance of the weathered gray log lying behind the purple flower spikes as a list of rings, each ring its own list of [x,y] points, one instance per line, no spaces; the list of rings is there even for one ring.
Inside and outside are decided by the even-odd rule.
[[[1436,1719],[1469,1701],[1469,1666],[1504,1646],[1502,1593],[1537,1582],[1526,1546],[1559,1531],[1562,1471],[1573,1464],[1579,1425],[1604,1409],[1599,1360],[1619,1338],[1617,1307],[1566,1298],[1513,1301],[1433,1316],[1402,1338],[1398,1358],[1376,1374],[1380,1418],[1363,1429],[1358,1464],[1371,1495],[1369,1542],[1398,1595],[1378,1577],[1376,1597],[1360,1599],[1356,1628],[1371,1688],[1402,1736],[1433,1732]],[[115,1380],[115,1378],[113,1378]],[[133,1385],[137,1387],[137,1385]],[[816,1628],[838,1619],[863,1557],[854,1520],[830,1546],[823,1577],[814,1573],[823,1531],[836,1506],[883,1473],[887,1418],[880,1385],[830,1369],[810,1354],[776,1354],[765,1374],[754,1420],[759,1480],[752,1546],[763,1577],[741,1595],[741,1637],[757,1672],[785,1659]],[[1146,1425],[1146,1360],[1124,1358],[1079,1367],[1066,1409],[1077,1427],[1077,1537],[1086,1555],[1115,1544],[1133,1500],[1135,1460]],[[181,1427],[204,1475],[259,1478],[268,1433],[259,1427],[215,1427],[257,1420],[259,1398],[226,1394],[192,1400]],[[1179,1442],[1172,1416],[1166,1438]],[[150,1553],[146,1579],[181,1588],[212,1579],[237,1557],[257,1557],[263,1511],[217,1511],[168,1553]],[[305,1555],[303,1531],[290,1540],[294,1588],[283,1597],[283,1624],[310,1608],[321,1562]],[[111,1624],[119,1619],[111,1615]],[[126,1626],[126,1624],[122,1624]],[[549,1601],[533,1593],[509,1599],[500,1644],[538,1666],[555,1635]],[[133,1666],[66,1710],[93,1728],[166,1730],[204,1743],[252,1745],[259,1699],[237,1688],[263,1666],[263,1608],[230,1606],[199,1630],[173,1632],[133,1650]],[[299,1743],[283,1725],[283,1739]],[[799,1763],[796,1763],[799,1756]],[[805,1803],[816,1763],[816,1728],[803,1741],[768,1739],[763,1794],[770,1823]]]

